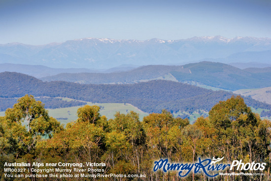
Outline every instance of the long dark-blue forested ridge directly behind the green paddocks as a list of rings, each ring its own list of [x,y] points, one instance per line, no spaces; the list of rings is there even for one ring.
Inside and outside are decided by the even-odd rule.
[[[22,97],[25,94],[67,97],[94,103],[130,103],[145,112],[209,110],[233,94],[211,91],[180,82],[153,80],[135,84],[79,84],[65,81],[42,82],[16,72],[0,73],[0,97]],[[271,109],[270,105],[247,98],[248,106]]]

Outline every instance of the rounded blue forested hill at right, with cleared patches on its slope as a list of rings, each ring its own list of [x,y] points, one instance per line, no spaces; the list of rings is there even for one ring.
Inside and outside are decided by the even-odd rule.
[[[233,91],[271,86],[271,71],[264,73],[249,72],[227,64],[210,62],[187,64],[183,67],[184,69],[190,70],[190,73],[171,72],[171,74],[181,82],[193,81],[203,85]],[[261,69],[259,68],[259,70]]]

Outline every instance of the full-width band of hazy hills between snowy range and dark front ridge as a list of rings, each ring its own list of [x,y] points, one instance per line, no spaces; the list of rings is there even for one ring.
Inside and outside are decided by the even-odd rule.
[[[148,65],[136,68],[134,65],[123,65],[100,71],[0,64],[0,72],[20,72],[43,81],[61,80],[81,84],[131,84],[162,79],[231,91],[271,86],[271,67],[241,70],[227,64],[208,61],[182,66]]]

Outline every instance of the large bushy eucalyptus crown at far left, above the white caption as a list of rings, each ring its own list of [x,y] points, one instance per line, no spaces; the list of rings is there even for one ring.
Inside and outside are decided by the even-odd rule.
[[[42,137],[52,137],[62,129],[60,123],[49,117],[44,104],[35,101],[34,96],[25,95],[17,100],[13,108],[6,109],[4,119],[21,148],[29,153]],[[23,122],[27,123],[26,127]]]

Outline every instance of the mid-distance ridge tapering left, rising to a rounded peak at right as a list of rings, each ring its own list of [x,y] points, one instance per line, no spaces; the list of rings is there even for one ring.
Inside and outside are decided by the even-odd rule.
[[[43,77],[41,80],[64,80],[86,84],[125,84],[149,79],[170,79],[233,91],[271,86],[270,68],[253,70],[241,70],[227,64],[203,61],[183,66],[149,65],[118,73],[61,73]]]

